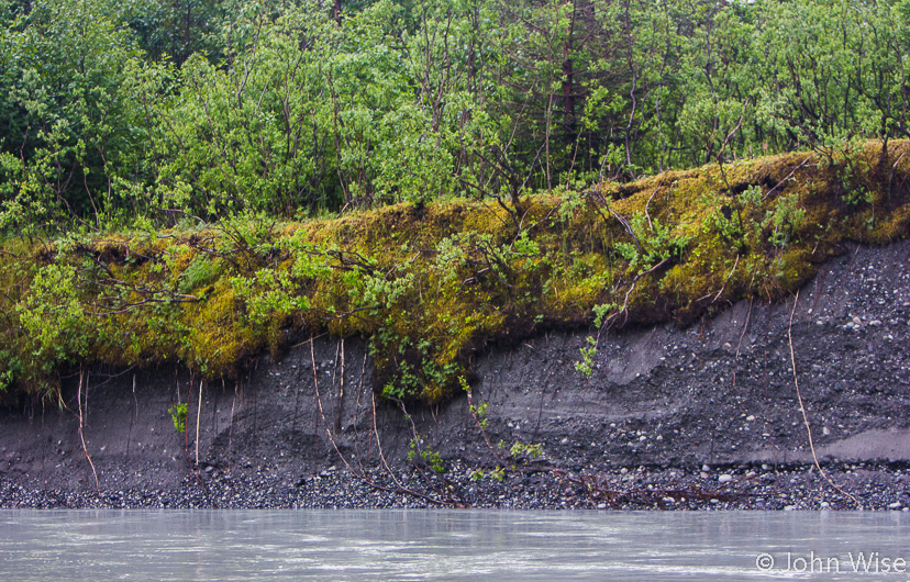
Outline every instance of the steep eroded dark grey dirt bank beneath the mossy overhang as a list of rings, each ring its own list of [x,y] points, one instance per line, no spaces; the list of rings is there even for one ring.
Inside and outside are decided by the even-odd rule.
[[[863,496],[874,489],[884,495],[881,503],[897,495],[895,503],[906,505],[910,500],[901,502],[900,495],[908,483],[902,468],[910,463],[910,243],[846,248],[800,291],[790,328],[792,309],[792,300],[745,302],[687,329],[658,325],[615,333],[596,356],[590,378],[574,369],[587,334],[491,346],[475,361],[475,404],[488,406],[492,444],[540,444],[544,456],[531,466],[559,470],[542,469],[544,477],[513,471],[524,490],[533,489],[532,477],[544,489],[554,479],[588,491],[646,486],[647,479],[630,481],[621,472],[644,468],[659,473],[655,483],[665,489],[710,489],[706,499],[723,497],[714,493],[728,485],[725,478],[718,480],[728,473],[736,491],[750,492],[755,479],[785,466],[801,474],[799,467],[811,461],[790,367],[790,332],[820,459],[833,463],[847,489],[855,486],[851,492]],[[82,436],[99,489],[119,503],[141,505],[176,491],[195,499],[187,491],[230,479],[247,483],[259,500],[298,499],[281,495],[308,490],[315,495],[310,501],[286,504],[334,505],[341,502],[312,501],[323,499],[312,475],[353,486],[339,485],[334,477],[346,470],[344,461],[355,472],[362,463],[382,468],[373,473],[377,482],[385,479],[396,489],[381,473],[386,463],[406,468],[413,433],[395,405],[376,402],[374,413],[370,373],[364,343],[328,337],[295,346],[279,362],[264,357],[241,381],[224,384],[200,384],[175,368],[92,370],[80,394]],[[92,496],[78,385],[76,378],[68,381],[63,410],[35,404],[0,415],[0,505],[29,505],[40,492],[45,501],[33,504]],[[408,411],[425,446],[453,479],[464,481],[463,489],[470,486],[467,471],[502,460],[488,449],[466,400]],[[186,435],[168,414],[175,402],[189,404]],[[326,471],[330,466],[337,470]],[[608,477],[597,484],[591,475]],[[688,480],[680,485],[670,475]],[[768,492],[770,481],[762,484],[763,500],[789,494],[787,479],[774,479],[778,489]],[[812,482],[813,492],[828,486],[818,477]],[[421,483],[426,485],[418,479],[411,489]],[[503,499],[514,490],[490,479],[477,486]],[[206,504],[204,495],[199,499]],[[540,506],[559,506],[562,497],[542,499]]]

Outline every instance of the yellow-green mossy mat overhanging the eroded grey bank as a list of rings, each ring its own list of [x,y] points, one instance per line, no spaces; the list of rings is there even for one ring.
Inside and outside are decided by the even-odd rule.
[[[274,228],[245,217],[78,243],[10,239],[0,390],[53,393],[76,360],[230,376],[266,348],[277,356],[329,332],[369,338],[381,393],[439,402],[490,342],[590,325],[596,305],[611,305],[600,307],[607,325],[690,322],[794,292],[845,240],[906,237],[908,149],[889,144],[888,171],[870,143],[833,163],[797,153],[532,195],[515,214],[457,199]],[[42,360],[21,320],[26,307],[62,307],[64,295],[32,292],[48,265],[71,273],[79,325],[51,321],[62,349]]]

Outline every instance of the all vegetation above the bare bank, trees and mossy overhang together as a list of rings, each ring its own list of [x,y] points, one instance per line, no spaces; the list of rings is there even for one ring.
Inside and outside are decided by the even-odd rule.
[[[328,331],[439,401],[780,296],[907,235],[908,57],[910,0],[0,0],[0,391]]]

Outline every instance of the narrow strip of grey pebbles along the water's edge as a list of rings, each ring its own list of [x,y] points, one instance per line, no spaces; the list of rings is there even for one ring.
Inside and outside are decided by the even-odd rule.
[[[355,475],[330,467],[288,483],[274,471],[186,477],[175,489],[97,492],[27,489],[0,480],[2,508],[498,508],[498,510],[875,510],[910,511],[910,468],[841,465],[620,469],[571,472],[525,468],[501,481],[470,478],[458,462],[426,470]]]

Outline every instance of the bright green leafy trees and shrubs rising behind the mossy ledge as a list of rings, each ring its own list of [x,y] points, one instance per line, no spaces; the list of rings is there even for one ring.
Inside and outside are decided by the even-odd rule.
[[[910,136],[910,2],[0,4],[8,232],[307,216]]]

